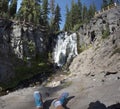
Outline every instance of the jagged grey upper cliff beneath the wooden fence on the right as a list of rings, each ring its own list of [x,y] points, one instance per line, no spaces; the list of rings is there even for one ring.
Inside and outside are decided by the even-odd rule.
[[[91,43],[97,45],[102,38],[113,34],[120,27],[120,7],[105,11],[93,18],[88,24],[80,27],[79,45],[89,46]],[[106,36],[105,36],[106,35]]]

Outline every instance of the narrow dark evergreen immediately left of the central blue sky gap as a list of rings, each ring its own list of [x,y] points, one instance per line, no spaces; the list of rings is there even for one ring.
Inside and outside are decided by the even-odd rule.
[[[55,32],[60,30],[60,21],[61,21],[61,14],[60,14],[60,7],[57,4],[56,9],[55,9],[55,18],[54,18],[54,30]]]

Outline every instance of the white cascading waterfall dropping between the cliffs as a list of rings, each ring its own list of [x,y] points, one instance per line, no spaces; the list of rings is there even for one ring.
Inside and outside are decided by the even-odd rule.
[[[59,34],[53,52],[54,63],[62,67],[77,55],[77,34],[68,35],[67,32]]]

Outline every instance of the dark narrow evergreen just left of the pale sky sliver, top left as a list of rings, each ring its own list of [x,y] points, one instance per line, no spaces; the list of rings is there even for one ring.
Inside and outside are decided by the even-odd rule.
[[[10,17],[14,17],[17,11],[17,0],[12,0],[9,6],[9,15]]]

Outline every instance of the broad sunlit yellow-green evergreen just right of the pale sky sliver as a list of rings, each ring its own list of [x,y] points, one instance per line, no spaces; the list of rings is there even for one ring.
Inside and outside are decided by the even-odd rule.
[[[18,12],[18,17],[25,22],[39,23],[40,0],[23,0]]]

